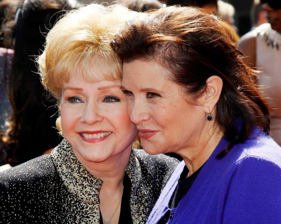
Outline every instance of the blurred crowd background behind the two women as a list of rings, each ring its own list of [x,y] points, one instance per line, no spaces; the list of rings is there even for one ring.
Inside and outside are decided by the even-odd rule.
[[[7,169],[49,153],[62,140],[55,125],[59,116],[56,101],[41,85],[36,57],[43,51],[45,36],[63,14],[92,2],[97,1],[0,0],[0,172],[1,165]],[[272,136],[281,145],[281,0],[98,3],[102,2],[123,3],[141,12],[191,5],[219,16],[225,35],[241,55],[244,53],[244,62],[263,72],[262,79],[255,82],[265,87],[265,97],[270,99]],[[141,148],[138,139],[133,146]]]

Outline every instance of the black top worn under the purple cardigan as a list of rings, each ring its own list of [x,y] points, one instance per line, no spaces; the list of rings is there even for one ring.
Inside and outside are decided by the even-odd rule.
[[[204,164],[197,170],[195,171],[191,176],[187,177],[187,174],[189,170],[187,169],[186,166],[184,166],[183,171],[181,172],[180,178],[178,180],[178,187],[176,191],[174,192],[170,203],[169,203],[169,208],[166,212],[166,214],[160,219],[160,221],[157,224],[166,224],[170,218],[173,217],[173,213],[171,213],[171,209],[176,208],[180,202],[180,200],[183,198],[183,196],[186,195],[192,184],[194,183],[196,177],[200,173],[202,167]]]

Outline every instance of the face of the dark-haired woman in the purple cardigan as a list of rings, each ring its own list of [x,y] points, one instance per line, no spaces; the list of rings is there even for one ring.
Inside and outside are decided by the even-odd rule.
[[[183,96],[155,62],[135,60],[123,65],[123,91],[128,112],[149,154],[176,152],[196,146],[206,122],[203,106]]]

